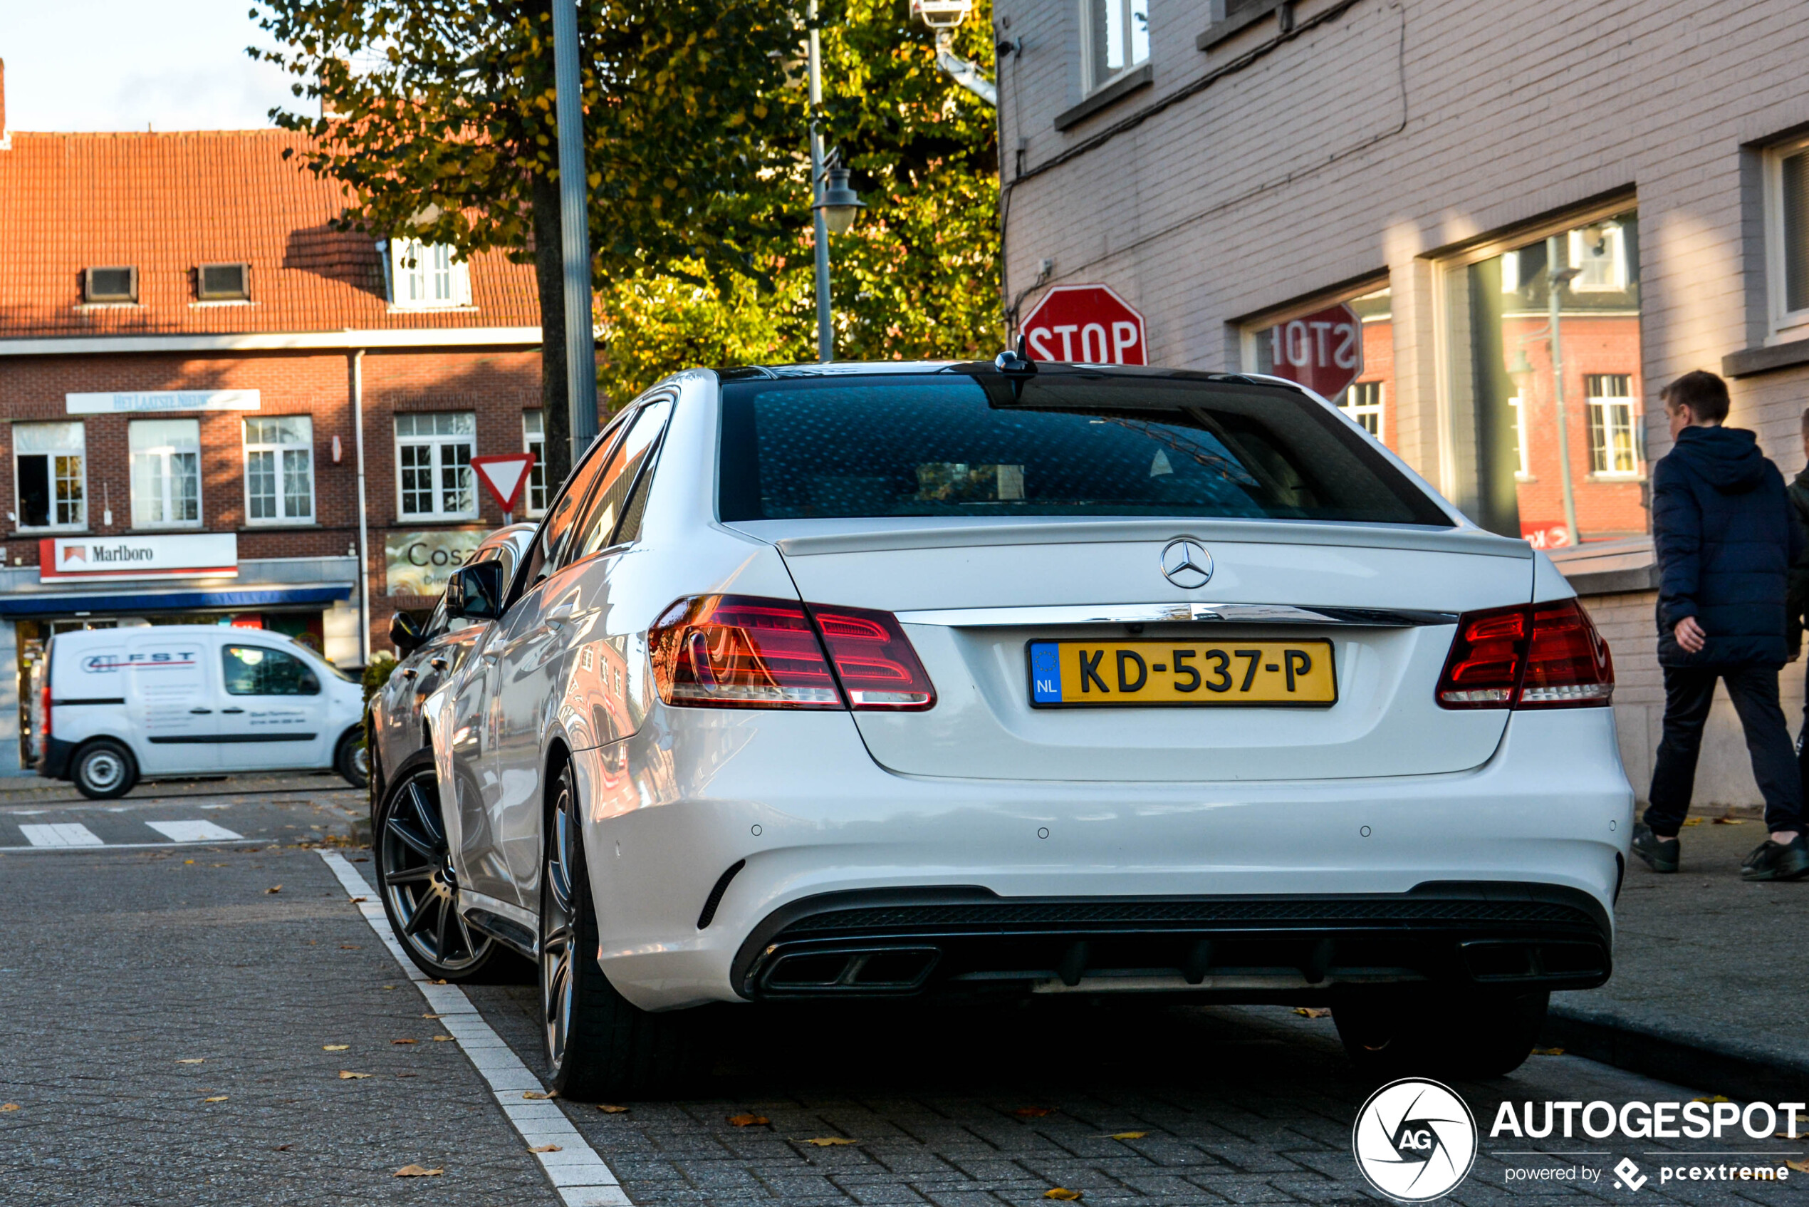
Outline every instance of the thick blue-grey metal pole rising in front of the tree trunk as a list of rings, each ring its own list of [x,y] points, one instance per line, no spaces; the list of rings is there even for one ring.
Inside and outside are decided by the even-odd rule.
[[[572,405],[573,465],[597,438],[597,337],[590,318],[590,223],[584,186],[584,105],[577,71],[577,4],[579,0],[554,0],[559,244],[564,262],[566,398]]]

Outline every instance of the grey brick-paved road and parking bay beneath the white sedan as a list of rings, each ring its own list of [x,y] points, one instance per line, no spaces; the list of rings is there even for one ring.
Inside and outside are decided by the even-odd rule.
[[[1053,1187],[1085,1203],[1377,1202],[1350,1149],[1375,1084],[1344,1060],[1330,1019],[1281,1008],[724,1008],[709,1024],[715,1068],[684,1098],[615,1113],[523,1100],[539,1069],[535,990],[420,984],[340,879],[369,876],[365,852],[322,858],[318,840],[362,796],[331,780],[237,787],[0,802],[0,1106],[18,1107],[0,1111],[9,1207],[554,1205],[586,1202],[561,1200],[554,1182],[572,1165],[559,1162],[595,1158],[620,1187],[592,1202],[642,1205],[1044,1203]],[[130,845],[177,822],[241,838]],[[81,825],[103,845],[33,847],[22,825]],[[1503,1098],[1713,1093],[1567,1055],[1456,1089],[1485,1133]],[[731,1122],[747,1115],[765,1122]],[[528,1151],[555,1127],[561,1153]],[[1632,1156],[1652,1173],[1659,1147],[1804,1160],[1804,1144],[1744,1136],[1550,1144],[1588,1151],[1574,1156],[1532,1147],[1485,1135],[1451,1202],[1624,1200],[1614,1164]],[[407,1165],[440,1173],[396,1176]],[[1509,1169],[1543,1165],[1601,1176],[1509,1182]],[[1793,1196],[1800,1183],[1657,1180],[1637,1194]]]

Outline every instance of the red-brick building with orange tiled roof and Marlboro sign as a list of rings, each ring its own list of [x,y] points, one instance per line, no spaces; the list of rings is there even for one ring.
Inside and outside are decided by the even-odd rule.
[[[4,112],[0,769],[65,628],[271,628],[362,666],[501,521],[469,460],[537,451],[534,270],[335,232],[288,132]]]

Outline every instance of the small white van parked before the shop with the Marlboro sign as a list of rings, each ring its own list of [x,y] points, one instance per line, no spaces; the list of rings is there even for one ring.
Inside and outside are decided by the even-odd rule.
[[[333,769],[365,782],[358,680],[277,633],[58,633],[34,688],[38,775],[94,800],[125,796],[141,776]]]

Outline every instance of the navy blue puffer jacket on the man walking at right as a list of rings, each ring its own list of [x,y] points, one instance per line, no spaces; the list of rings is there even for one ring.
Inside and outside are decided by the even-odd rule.
[[[1659,556],[1661,666],[1784,666],[1785,590],[1804,536],[1784,474],[1738,427],[1686,427],[1652,467]],[[1708,633],[1684,653],[1672,632],[1697,617]]]

